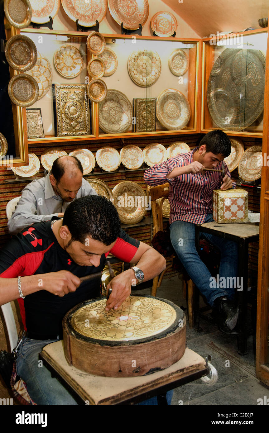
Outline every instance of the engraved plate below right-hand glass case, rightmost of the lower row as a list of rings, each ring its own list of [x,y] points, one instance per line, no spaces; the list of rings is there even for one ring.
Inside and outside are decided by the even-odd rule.
[[[238,164],[238,173],[246,182],[256,181],[262,176],[262,146],[251,146],[243,153]]]

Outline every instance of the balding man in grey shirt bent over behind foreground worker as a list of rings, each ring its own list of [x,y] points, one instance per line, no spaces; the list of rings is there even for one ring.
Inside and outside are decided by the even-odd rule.
[[[7,223],[9,232],[15,235],[30,224],[48,221],[52,216],[61,218],[71,201],[91,194],[97,195],[83,178],[78,158],[60,156],[44,178],[32,181],[23,189]]]

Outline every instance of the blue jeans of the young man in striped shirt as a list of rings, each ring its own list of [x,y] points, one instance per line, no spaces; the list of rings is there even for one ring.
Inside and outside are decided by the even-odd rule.
[[[214,221],[212,213],[208,213],[205,223]],[[238,246],[236,242],[222,239],[208,233],[201,233],[217,249],[220,250],[220,274],[219,278],[237,277],[238,272]],[[234,288],[212,288],[211,273],[206,265],[201,261],[195,247],[195,225],[185,221],[175,221],[170,226],[170,238],[172,246],[178,255],[182,265],[188,272],[192,281],[203,294],[208,304],[213,307],[214,300],[220,296],[227,296],[229,299],[234,297]],[[226,280],[227,281],[227,280]],[[213,285],[213,284],[211,284]],[[217,286],[217,284],[216,284]]]

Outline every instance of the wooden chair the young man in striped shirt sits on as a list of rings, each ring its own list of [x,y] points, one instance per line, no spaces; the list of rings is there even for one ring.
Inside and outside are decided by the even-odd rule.
[[[151,210],[153,219],[153,236],[159,231],[163,231],[162,222],[162,205],[165,198],[169,195],[169,183],[157,186],[147,186],[147,195],[151,197]],[[161,199],[161,200],[158,200]],[[158,200],[158,202],[156,201]],[[175,255],[167,257],[167,259],[174,259]],[[157,288],[162,284],[162,278],[166,271],[172,268],[172,264],[166,266],[165,270],[160,275],[153,278],[152,296],[156,296]],[[186,272],[183,274],[183,297],[186,299],[186,292],[188,293],[188,318],[189,326],[194,327],[194,283]]]

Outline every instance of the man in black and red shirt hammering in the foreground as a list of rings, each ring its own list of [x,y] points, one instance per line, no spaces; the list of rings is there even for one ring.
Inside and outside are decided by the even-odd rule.
[[[0,305],[20,296],[27,333],[16,368],[37,404],[76,404],[44,366],[39,368],[38,354],[43,346],[61,338],[62,319],[68,310],[100,295],[100,277],[84,282],[80,278],[102,271],[109,252],[137,263],[144,281],[166,265],[156,250],[120,229],[116,208],[95,195],[72,202],[63,220],[54,217],[24,229],[0,252]],[[132,283],[139,283],[137,276],[137,270],[131,268],[110,281],[107,288],[112,293],[106,310],[120,307]]]

